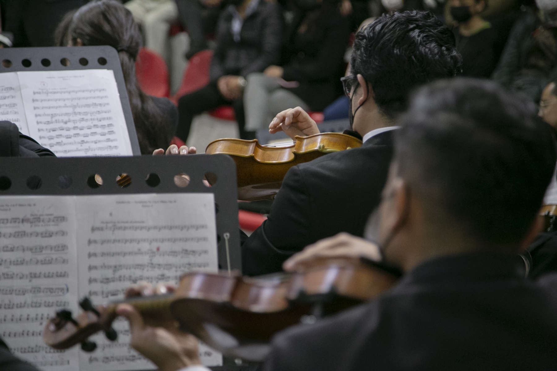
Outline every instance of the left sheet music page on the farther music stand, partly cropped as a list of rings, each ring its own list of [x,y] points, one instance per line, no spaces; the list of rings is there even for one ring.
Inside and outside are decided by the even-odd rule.
[[[0,73],[0,117],[15,123],[19,131],[29,135],[17,72]]]

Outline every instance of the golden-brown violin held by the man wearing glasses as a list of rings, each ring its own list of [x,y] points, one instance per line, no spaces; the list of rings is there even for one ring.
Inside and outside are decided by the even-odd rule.
[[[319,133],[296,136],[286,146],[263,146],[257,139],[224,138],[212,141],[206,154],[225,154],[236,162],[238,199],[244,201],[273,200],[286,172],[302,162],[331,152],[360,147],[356,137],[341,133]],[[207,179],[212,183],[211,179]]]

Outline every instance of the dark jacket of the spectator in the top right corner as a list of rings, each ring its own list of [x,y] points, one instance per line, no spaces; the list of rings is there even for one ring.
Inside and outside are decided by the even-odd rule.
[[[528,8],[512,27],[511,34],[492,78],[501,85],[539,102],[541,91],[557,78],[557,63],[550,71],[524,70],[534,45],[532,34],[541,25],[538,14]],[[554,32],[554,31],[551,31]]]

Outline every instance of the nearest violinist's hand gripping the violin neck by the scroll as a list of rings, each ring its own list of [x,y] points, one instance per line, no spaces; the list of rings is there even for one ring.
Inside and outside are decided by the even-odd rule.
[[[126,290],[126,297],[165,294],[173,290],[172,285],[140,283]],[[146,326],[139,312],[129,304],[120,304],[116,313],[130,323],[131,347],[150,359],[160,371],[176,371],[201,364],[198,342],[193,335],[177,329]]]

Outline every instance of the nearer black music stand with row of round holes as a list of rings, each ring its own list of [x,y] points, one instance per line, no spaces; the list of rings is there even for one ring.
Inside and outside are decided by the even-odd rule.
[[[131,182],[121,187],[116,177]],[[174,176],[187,174],[189,184],[179,187]],[[95,182],[102,177],[102,185]],[[208,187],[203,179],[214,179]],[[38,185],[38,186],[37,186]],[[0,197],[13,195],[114,195],[146,193],[212,193],[217,224],[219,268],[241,270],[236,165],[228,155],[133,157],[3,157],[0,161]],[[253,365],[224,358],[214,370],[245,370]]]

